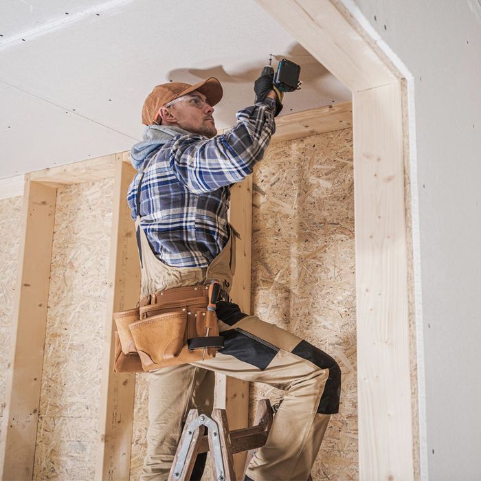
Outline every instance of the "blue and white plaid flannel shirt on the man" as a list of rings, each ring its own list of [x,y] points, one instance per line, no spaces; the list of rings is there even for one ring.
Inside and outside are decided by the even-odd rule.
[[[252,173],[275,132],[275,102],[266,98],[237,113],[230,131],[206,139],[172,137],[146,157],[140,194],[141,225],[157,258],[175,267],[208,267],[229,239],[230,185]],[[135,197],[142,172],[128,188]]]

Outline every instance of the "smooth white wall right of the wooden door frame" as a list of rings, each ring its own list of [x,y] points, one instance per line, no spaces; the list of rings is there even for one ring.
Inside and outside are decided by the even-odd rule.
[[[414,76],[429,480],[480,480],[481,2],[355,3]]]

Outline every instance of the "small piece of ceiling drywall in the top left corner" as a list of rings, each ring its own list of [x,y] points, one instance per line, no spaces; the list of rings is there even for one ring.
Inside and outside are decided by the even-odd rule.
[[[45,23],[67,19],[98,3],[98,0],[2,0],[0,35],[16,36]]]

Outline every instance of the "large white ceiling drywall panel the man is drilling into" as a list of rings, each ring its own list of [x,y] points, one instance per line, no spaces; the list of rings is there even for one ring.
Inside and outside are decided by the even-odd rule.
[[[302,67],[304,85],[285,96],[282,113],[350,100],[350,91],[253,0],[197,5],[117,0],[97,15],[89,4],[80,20],[0,45],[0,82],[133,139],[142,137],[144,98],[169,80],[218,77],[225,95],[216,106],[216,125],[232,126],[235,112],[253,102],[253,82],[269,53]],[[39,155],[45,147],[38,145]],[[32,170],[28,159],[23,162],[19,168]]]

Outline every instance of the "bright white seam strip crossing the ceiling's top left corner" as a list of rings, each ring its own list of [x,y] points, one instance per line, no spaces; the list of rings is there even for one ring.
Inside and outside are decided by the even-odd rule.
[[[131,3],[132,1],[133,0],[109,0],[104,3],[100,3],[100,5],[86,8],[81,12],[69,14],[67,16],[61,17],[60,19],[38,25],[38,27],[31,28],[30,30],[25,30],[24,32],[20,32],[19,34],[14,34],[7,38],[3,38],[0,41],[0,52],[12,45],[16,45],[17,42],[25,41],[27,38],[40,36],[42,34],[52,32],[53,30],[58,30],[61,27],[67,27],[69,26],[69,24],[76,23],[84,19],[86,16],[89,16],[91,14],[98,14],[99,12],[104,12],[105,10],[110,10],[111,8],[118,7],[119,5],[122,5],[122,3]]]

